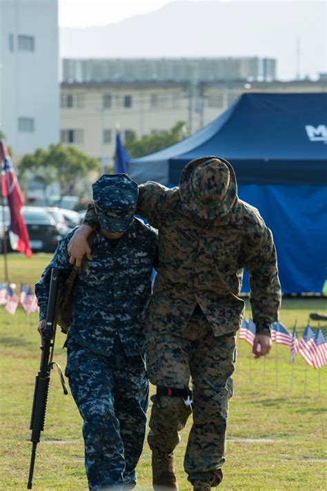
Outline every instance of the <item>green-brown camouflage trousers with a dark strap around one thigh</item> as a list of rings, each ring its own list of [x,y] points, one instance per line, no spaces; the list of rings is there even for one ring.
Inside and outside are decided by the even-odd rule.
[[[148,443],[152,451],[170,453],[179,443],[179,430],[193,412],[184,469],[188,480],[221,481],[225,461],[228,399],[232,396],[235,333],[215,337],[196,309],[181,336],[151,333],[147,365],[154,385],[183,389],[192,377],[192,411],[182,398],[152,396]]]

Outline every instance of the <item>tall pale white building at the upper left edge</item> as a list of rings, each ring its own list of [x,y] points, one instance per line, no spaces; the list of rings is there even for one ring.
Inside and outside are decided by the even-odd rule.
[[[59,141],[57,0],[0,0],[0,130],[14,157]]]

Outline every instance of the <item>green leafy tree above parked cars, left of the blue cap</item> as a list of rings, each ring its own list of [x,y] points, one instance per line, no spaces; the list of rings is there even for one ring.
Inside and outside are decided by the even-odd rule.
[[[44,192],[49,184],[58,183],[62,197],[74,194],[77,182],[90,172],[99,171],[99,167],[98,159],[88,157],[75,146],[59,143],[25,155],[19,164],[19,177],[28,175],[41,182]]]

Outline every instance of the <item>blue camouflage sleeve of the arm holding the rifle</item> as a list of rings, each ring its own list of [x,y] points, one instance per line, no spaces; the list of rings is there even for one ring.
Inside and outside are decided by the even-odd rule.
[[[69,256],[67,251],[67,245],[72,238],[75,230],[68,233],[65,238],[59,241],[58,247],[54,252],[54,256],[46,269],[43,271],[41,280],[35,285],[35,295],[37,296],[37,303],[40,308],[40,320],[46,318],[46,311],[48,307],[49,290],[50,290],[50,279],[51,279],[51,269],[63,269],[63,276],[68,276],[72,269],[72,264],[69,262]]]

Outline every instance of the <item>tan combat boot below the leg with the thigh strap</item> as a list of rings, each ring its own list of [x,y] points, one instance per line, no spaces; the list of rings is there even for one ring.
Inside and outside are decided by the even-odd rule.
[[[172,454],[152,452],[152,484],[155,491],[178,490]]]

